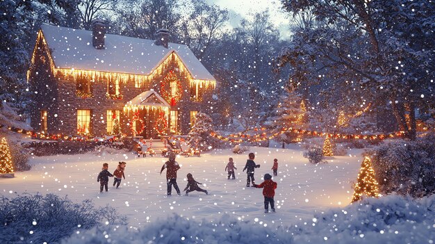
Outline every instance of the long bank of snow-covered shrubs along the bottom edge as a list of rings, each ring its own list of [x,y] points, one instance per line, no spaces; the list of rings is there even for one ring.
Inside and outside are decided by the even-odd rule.
[[[319,211],[290,227],[236,220],[227,214],[213,222],[172,215],[138,230],[121,226],[81,231],[65,240],[65,244],[430,243],[429,240],[435,240],[434,219],[435,195],[420,200],[388,195]]]

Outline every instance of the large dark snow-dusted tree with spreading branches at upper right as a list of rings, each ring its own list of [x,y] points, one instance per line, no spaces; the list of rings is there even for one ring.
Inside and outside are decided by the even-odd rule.
[[[333,94],[348,109],[364,100],[373,106],[389,103],[398,129],[415,138],[416,111],[425,113],[435,103],[433,3],[281,2],[294,15],[313,13],[316,22],[294,30],[278,69],[289,64],[291,82],[318,86],[321,95]]]

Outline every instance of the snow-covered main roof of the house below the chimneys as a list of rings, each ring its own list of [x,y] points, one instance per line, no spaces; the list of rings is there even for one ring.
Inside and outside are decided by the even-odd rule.
[[[49,24],[42,24],[41,30],[59,68],[147,75],[175,51],[193,79],[215,81],[183,44],[169,43],[166,49],[154,44],[154,40],[106,34],[105,49],[95,49],[92,31]]]

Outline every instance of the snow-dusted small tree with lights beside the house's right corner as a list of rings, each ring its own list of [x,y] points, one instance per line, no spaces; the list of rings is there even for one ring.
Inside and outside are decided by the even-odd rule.
[[[198,148],[202,151],[211,149],[213,137],[210,133],[213,131],[211,117],[205,113],[197,113],[195,124],[193,124],[192,129],[188,133],[188,144],[190,147]]]

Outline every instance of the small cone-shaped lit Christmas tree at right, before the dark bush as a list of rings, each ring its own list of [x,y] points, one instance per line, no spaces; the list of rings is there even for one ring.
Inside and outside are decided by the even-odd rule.
[[[359,170],[358,179],[355,184],[354,196],[352,202],[361,200],[361,197],[366,195],[368,197],[378,197],[379,188],[377,188],[377,181],[375,179],[375,171],[372,168],[370,158],[366,156],[361,169]]]

